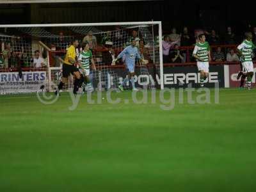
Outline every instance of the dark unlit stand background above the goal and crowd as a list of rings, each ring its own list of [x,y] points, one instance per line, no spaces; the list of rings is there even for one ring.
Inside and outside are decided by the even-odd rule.
[[[0,4],[0,24],[129,22],[161,20],[164,33],[174,26],[216,29],[232,26],[237,35],[255,25],[255,7],[234,1],[136,1],[106,3]]]

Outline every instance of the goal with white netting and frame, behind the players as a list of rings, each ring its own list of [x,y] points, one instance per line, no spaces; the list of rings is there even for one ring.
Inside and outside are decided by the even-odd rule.
[[[160,38],[159,38],[160,37]],[[93,88],[116,88],[127,76],[125,57],[112,61],[136,40],[145,65],[136,59],[135,81],[141,88],[163,88],[161,22],[120,22],[98,24],[36,24],[0,26],[0,93],[52,92],[61,80],[67,48],[79,40],[88,42],[96,70],[90,70]],[[161,75],[162,74],[162,75]],[[70,76],[65,90],[73,86]],[[131,86],[129,82],[127,87]]]

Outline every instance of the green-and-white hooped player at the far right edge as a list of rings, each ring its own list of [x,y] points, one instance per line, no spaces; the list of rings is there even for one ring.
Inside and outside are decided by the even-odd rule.
[[[252,62],[252,53],[253,49],[256,49],[255,45],[252,42],[252,33],[245,33],[245,40],[242,44],[238,45],[237,52],[240,56],[242,65],[243,65],[243,74],[247,76],[246,86],[248,89],[251,88],[252,77],[253,77],[253,62]],[[241,75],[241,74],[239,74]]]

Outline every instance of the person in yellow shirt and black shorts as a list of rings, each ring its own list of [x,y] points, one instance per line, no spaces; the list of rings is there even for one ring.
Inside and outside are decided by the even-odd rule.
[[[55,94],[59,95],[60,90],[62,90],[63,85],[68,83],[68,76],[72,74],[75,77],[74,81],[74,91],[73,93],[76,94],[79,87],[83,83],[83,76],[80,74],[78,68],[74,65],[76,63],[76,47],[78,47],[79,42],[78,40],[74,40],[73,44],[68,47],[67,54],[65,56],[64,63],[62,65],[62,77],[60,84],[58,85],[58,89],[56,90]]]

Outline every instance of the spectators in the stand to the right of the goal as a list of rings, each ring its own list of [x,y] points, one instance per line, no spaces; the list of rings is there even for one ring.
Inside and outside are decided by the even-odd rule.
[[[210,31],[196,29],[189,31],[184,27],[180,33],[176,28],[172,28],[170,34],[164,35],[163,38],[163,62],[164,63],[184,63],[188,57],[188,52],[184,51],[189,48],[189,54],[193,51],[193,46],[198,42],[197,36],[204,33],[206,41],[212,46],[212,61],[239,61],[236,54],[236,45],[243,41],[243,36],[236,35],[233,29],[228,26],[227,31],[220,35],[216,30]],[[256,44],[256,27],[252,28],[253,43]],[[226,45],[221,48],[219,45]],[[181,46],[181,47],[180,47]],[[181,48],[181,51],[179,49]],[[186,48],[188,49],[188,48]],[[254,55],[252,55],[254,57]],[[191,61],[193,59],[191,58]]]

